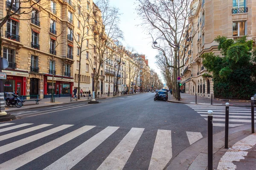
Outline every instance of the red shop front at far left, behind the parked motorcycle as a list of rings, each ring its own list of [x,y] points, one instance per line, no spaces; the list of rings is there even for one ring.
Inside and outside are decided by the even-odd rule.
[[[7,74],[6,79],[3,80],[3,91],[14,92],[18,96],[26,95],[26,79],[29,77],[27,72],[2,70]]]

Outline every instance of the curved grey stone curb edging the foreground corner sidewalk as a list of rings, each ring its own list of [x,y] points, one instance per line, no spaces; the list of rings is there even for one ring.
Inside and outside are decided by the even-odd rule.
[[[229,129],[229,136],[243,131],[248,130],[251,128],[251,125],[243,125],[239,127],[233,127],[232,129]],[[225,135],[225,130],[221,131],[219,133],[216,133],[213,135],[213,144],[216,142],[219,142],[220,139],[223,139]],[[208,145],[208,138],[207,136],[198,140],[194,144],[190,145],[183,151],[181,151],[172,161],[170,164],[166,167],[166,170],[188,170],[188,168],[191,166],[193,161],[199,156],[200,153],[202,153],[204,150],[207,149]],[[220,150],[224,146],[221,144],[221,146],[214,147],[214,151]],[[214,152],[214,153],[216,153]],[[200,165],[199,165],[200,166]]]

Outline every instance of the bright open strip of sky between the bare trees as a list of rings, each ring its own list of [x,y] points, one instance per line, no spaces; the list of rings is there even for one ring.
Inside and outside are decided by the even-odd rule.
[[[119,12],[121,13],[120,28],[124,33],[122,44],[133,47],[139,54],[145,54],[149,67],[154,69],[164,82],[160,74],[160,69],[155,64],[154,57],[158,54],[158,51],[151,47],[152,38],[142,26],[137,26],[140,25],[141,19],[135,10],[136,5],[134,3],[137,3],[136,0],[110,0],[110,3],[111,6],[119,8]]]

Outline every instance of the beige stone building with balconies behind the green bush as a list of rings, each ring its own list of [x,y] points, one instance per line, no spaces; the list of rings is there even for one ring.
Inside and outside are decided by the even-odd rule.
[[[205,74],[211,74],[204,68],[201,56],[213,52],[220,55],[217,36],[225,36],[234,41],[247,35],[255,40],[256,1],[253,0],[193,0],[190,6],[190,34],[195,36],[189,46],[189,64],[183,70],[182,84],[185,93],[210,98],[213,93],[213,81]],[[190,52],[191,50],[191,52]],[[180,58],[181,59],[181,58]],[[180,62],[180,64],[182,64]]]

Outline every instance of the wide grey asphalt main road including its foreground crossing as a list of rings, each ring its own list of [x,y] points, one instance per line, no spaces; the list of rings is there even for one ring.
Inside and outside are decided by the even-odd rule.
[[[153,98],[137,94],[14,113],[17,120],[0,124],[0,169],[165,169],[190,146],[189,138],[207,136],[207,121],[191,106]]]

